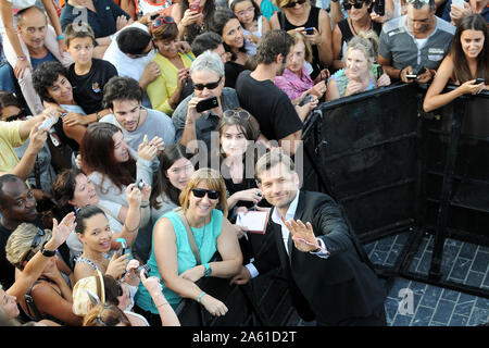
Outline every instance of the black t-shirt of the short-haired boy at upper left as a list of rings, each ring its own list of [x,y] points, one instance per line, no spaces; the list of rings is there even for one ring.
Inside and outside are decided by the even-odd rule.
[[[73,86],[73,98],[87,114],[103,109],[103,86],[111,77],[117,76],[117,70],[108,61],[92,59],[88,74],[78,76],[75,73],[75,64],[70,65],[67,78]]]

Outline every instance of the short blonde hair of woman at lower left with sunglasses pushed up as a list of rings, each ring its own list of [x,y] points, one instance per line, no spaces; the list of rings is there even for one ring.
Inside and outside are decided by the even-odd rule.
[[[42,244],[51,238],[51,231],[43,229],[45,235],[40,236],[39,244],[32,248],[37,232],[38,227],[35,225],[22,223],[10,235],[9,240],[7,240],[5,253],[7,260],[15,268],[23,270],[24,265],[22,263],[29,261],[40,250]]]

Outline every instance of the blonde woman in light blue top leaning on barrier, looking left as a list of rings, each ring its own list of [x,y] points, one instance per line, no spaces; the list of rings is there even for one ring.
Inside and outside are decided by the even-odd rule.
[[[326,101],[390,85],[390,78],[375,64],[378,37],[373,30],[363,32],[348,42],[344,69],[331,75]]]

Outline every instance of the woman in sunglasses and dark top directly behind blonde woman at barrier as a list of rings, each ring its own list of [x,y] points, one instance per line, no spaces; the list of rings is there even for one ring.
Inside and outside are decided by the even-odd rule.
[[[347,53],[348,42],[362,32],[374,30],[380,35],[383,25],[371,18],[372,0],[347,0],[343,8],[348,18],[338,22],[333,30],[333,67],[340,70],[344,67],[342,58]]]

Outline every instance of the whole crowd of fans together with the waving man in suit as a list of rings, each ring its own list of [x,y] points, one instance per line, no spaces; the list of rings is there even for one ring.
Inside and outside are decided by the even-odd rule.
[[[487,89],[488,8],[0,0],[0,325],[180,325],[183,299],[228,311],[202,277],[278,265],[304,320],[386,325],[339,207],[300,189],[303,125],[394,82],[430,84],[427,112]]]

